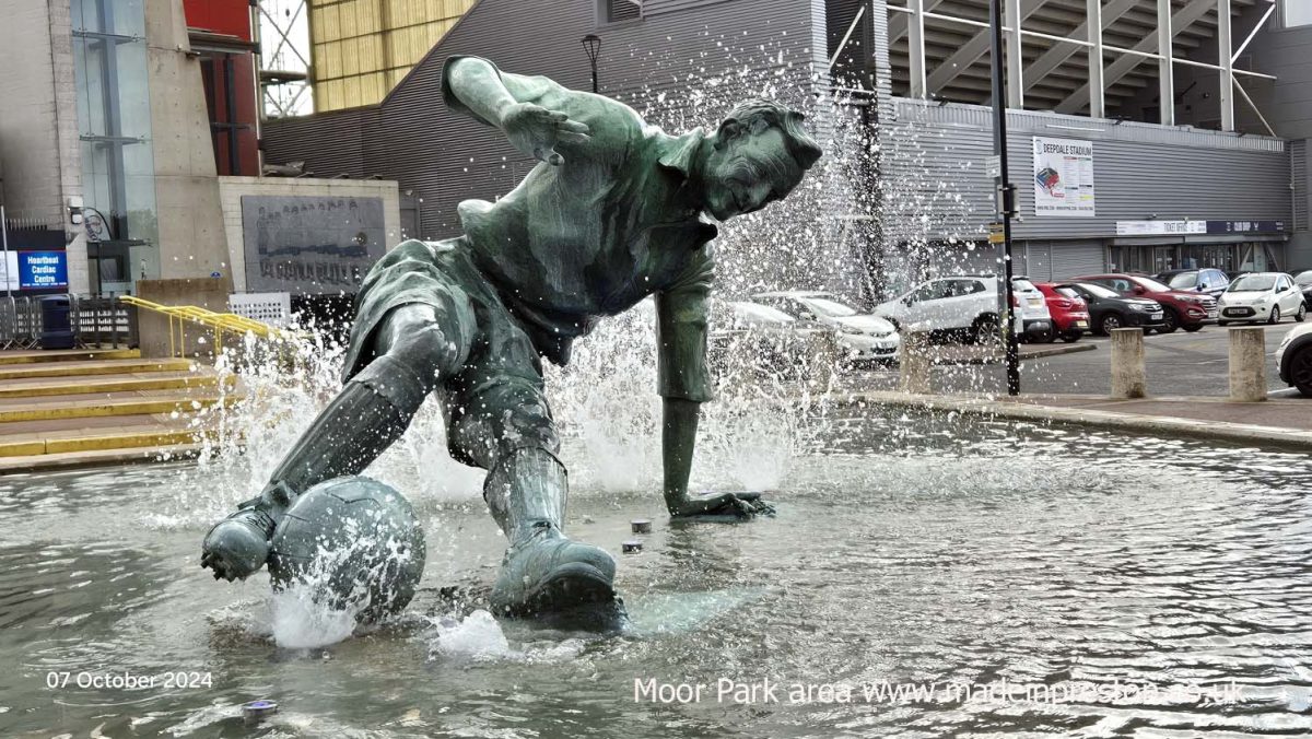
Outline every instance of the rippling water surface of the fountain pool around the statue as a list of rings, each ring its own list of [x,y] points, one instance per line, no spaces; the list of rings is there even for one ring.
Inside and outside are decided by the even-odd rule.
[[[502,545],[472,495],[412,499],[429,566],[400,620],[302,625],[262,574],[210,580],[203,522],[147,515],[198,484],[0,480],[0,735],[1312,732],[1299,454],[844,411],[777,518],[674,528],[655,490],[580,486],[571,529],[617,554],[632,616],[607,637],[479,610]],[[247,727],[257,698],[279,711]]]

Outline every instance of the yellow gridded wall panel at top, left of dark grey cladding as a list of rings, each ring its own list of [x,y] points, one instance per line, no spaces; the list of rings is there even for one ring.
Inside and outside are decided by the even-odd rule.
[[[311,0],[315,109],[373,105],[475,0]]]

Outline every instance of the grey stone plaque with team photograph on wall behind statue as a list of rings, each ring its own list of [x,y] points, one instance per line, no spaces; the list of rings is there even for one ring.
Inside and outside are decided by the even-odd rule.
[[[382,198],[241,196],[247,290],[354,293],[386,251]]]

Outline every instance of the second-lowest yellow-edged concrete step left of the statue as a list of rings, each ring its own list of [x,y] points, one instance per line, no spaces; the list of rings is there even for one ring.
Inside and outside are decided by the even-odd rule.
[[[236,395],[222,398],[235,403]],[[178,391],[106,392],[98,395],[63,395],[45,398],[0,399],[0,424],[13,421],[49,421],[60,419],[89,419],[101,416],[130,416],[148,413],[190,413],[214,406],[220,396],[213,392],[180,396]],[[3,428],[3,427],[0,427]]]

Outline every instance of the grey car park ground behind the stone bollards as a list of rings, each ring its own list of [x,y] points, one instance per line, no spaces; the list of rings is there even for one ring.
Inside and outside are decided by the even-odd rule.
[[[1284,333],[1295,324],[1281,323],[1266,327],[1267,354],[1274,354]],[[1215,326],[1195,333],[1177,331],[1151,335],[1145,341],[1148,392],[1153,396],[1212,396],[1224,398],[1229,391],[1228,331]],[[1078,352],[1056,357],[1029,358],[1021,366],[1021,390],[1025,394],[1047,395],[1106,395],[1111,391],[1109,340],[1084,337],[1078,344],[1093,345],[1093,352]],[[1077,345],[1078,345],[1077,344]],[[1050,344],[1044,347],[1060,347]],[[844,389],[892,390],[896,370],[874,369],[850,373],[842,379]],[[1267,387],[1275,398],[1298,398],[1284,390],[1275,368],[1269,360]],[[1005,370],[1000,365],[954,365],[934,369],[934,390],[939,392],[1001,392],[1005,391]]]

